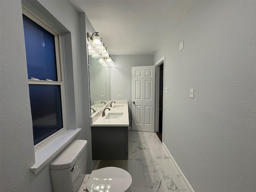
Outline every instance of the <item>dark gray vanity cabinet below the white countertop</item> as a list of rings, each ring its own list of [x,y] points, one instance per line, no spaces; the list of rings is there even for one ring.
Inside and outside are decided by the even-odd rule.
[[[92,160],[128,160],[128,127],[91,128]]]

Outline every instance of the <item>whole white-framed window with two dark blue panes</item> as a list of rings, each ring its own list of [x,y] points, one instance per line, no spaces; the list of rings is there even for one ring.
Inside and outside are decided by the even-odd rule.
[[[35,151],[66,130],[59,34],[23,10]]]

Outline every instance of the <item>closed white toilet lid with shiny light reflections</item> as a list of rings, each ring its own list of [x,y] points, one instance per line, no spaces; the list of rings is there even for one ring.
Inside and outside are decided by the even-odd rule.
[[[88,192],[126,192],[131,184],[132,176],[126,170],[104,167],[92,171],[86,188]]]

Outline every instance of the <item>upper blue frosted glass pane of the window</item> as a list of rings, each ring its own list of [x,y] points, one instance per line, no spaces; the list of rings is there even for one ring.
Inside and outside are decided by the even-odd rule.
[[[54,35],[25,15],[23,27],[28,79],[34,77],[57,81]]]

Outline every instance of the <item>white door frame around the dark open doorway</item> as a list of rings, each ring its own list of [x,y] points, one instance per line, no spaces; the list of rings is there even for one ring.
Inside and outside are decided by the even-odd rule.
[[[159,74],[160,74],[160,64],[164,62],[165,56],[163,56],[158,62],[155,63],[156,66],[156,82],[155,82],[155,132],[159,132]],[[165,62],[164,62],[165,68]],[[163,118],[162,121],[164,122],[164,74],[163,74]],[[164,134],[164,123],[162,124],[162,135]],[[163,136],[162,136],[163,142]]]

